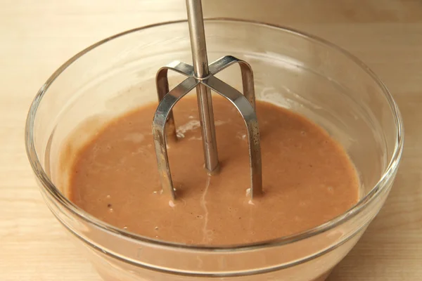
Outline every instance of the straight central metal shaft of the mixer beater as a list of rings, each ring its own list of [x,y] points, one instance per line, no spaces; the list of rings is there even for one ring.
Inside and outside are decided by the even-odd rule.
[[[198,79],[207,77],[208,70],[207,46],[201,0],[186,0],[188,12],[189,37],[191,38],[192,60],[195,76]],[[209,173],[219,168],[217,141],[215,140],[214,112],[212,110],[211,91],[207,86],[196,86],[198,97],[199,118],[202,128],[205,168]]]

